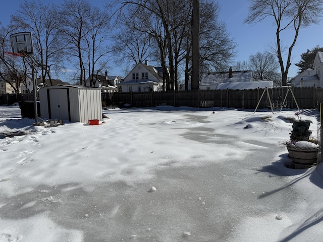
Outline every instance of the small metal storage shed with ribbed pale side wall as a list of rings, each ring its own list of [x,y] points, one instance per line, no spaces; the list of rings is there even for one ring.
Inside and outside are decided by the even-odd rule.
[[[101,89],[55,85],[39,90],[41,118],[87,123],[102,119]]]

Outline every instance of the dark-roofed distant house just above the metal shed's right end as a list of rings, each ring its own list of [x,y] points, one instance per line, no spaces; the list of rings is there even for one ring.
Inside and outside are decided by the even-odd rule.
[[[119,76],[108,76],[107,71],[105,71],[105,75],[95,75],[93,77],[93,82],[95,88],[101,88],[101,92],[117,92],[118,91],[118,83],[121,82],[121,78]],[[86,86],[90,86],[90,78],[86,79]]]

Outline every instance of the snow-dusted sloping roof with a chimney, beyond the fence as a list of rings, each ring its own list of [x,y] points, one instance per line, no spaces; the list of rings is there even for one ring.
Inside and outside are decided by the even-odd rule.
[[[234,71],[229,78],[230,72],[207,73],[202,76],[200,85],[217,85],[230,82],[252,82],[252,71]]]

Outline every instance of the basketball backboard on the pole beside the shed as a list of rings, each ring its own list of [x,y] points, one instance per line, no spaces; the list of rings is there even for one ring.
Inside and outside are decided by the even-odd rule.
[[[32,44],[31,32],[21,32],[10,35],[12,52],[33,54],[34,47]]]

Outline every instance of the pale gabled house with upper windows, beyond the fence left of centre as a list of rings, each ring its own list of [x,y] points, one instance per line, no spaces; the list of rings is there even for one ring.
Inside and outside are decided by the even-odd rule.
[[[118,84],[122,92],[148,92],[163,90],[163,76],[158,68],[138,63],[124,81]]]

